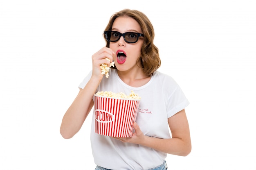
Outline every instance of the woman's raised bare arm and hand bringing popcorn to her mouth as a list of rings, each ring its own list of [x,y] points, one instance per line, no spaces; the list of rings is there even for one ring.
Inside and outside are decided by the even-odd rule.
[[[105,58],[112,61],[113,54],[114,52],[110,48],[103,47],[92,55],[92,76],[85,87],[80,89],[61,122],[60,133],[65,139],[72,138],[81,129],[94,105],[92,97],[103,78],[100,65],[104,63],[110,65]]]

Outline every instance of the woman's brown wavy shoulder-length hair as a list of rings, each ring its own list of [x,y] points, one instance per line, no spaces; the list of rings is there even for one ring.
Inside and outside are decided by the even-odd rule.
[[[146,75],[150,76],[161,65],[158,48],[153,43],[155,37],[153,25],[144,13],[137,10],[123,9],[110,17],[105,31],[111,31],[115,19],[123,16],[132,17],[141,27],[144,34],[144,43],[141,47],[141,57],[139,57],[138,60],[141,62],[143,71]],[[106,47],[109,47],[109,43],[110,42],[106,40]]]

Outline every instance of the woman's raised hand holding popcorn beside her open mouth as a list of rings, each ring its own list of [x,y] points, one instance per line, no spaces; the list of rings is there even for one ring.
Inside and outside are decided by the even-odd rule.
[[[107,64],[110,66],[113,61],[113,55],[115,52],[108,47],[101,48],[98,52],[92,55],[92,77],[99,79],[103,78],[103,74],[101,74],[101,64]],[[110,59],[110,61],[106,60],[106,58]]]

